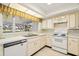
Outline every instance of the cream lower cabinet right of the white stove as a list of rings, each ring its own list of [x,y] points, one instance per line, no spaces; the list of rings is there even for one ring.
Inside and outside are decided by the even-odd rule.
[[[79,38],[68,38],[68,52],[74,55],[79,55]]]

